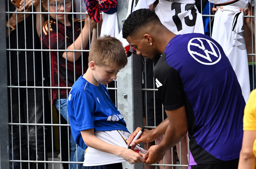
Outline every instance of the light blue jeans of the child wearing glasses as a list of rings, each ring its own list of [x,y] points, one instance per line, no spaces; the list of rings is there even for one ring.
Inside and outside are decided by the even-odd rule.
[[[54,105],[60,111],[60,114],[65,118],[66,121],[68,121],[68,108],[67,108],[67,99],[56,99],[54,100]],[[60,106],[59,106],[60,103]],[[71,145],[71,153],[70,153],[70,161],[76,161],[76,143],[73,139],[72,133],[70,132],[70,145]],[[77,161],[78,162],[84,162],[84,149],[81,147],[77,146]],[[83,164],[78,164],[78,166],[81,167]],[[76,165],[73,166],[72,163],[70,163],[70,168],[76,168]],[[80,168],[81,168],[80,167]],[[78,167],[79,168],[79,167]]]

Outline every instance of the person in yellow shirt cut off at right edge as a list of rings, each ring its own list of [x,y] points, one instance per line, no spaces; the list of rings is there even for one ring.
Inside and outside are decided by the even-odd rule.
[[[238,169],[256,167],[256,89],[244,108],[244,135]]]

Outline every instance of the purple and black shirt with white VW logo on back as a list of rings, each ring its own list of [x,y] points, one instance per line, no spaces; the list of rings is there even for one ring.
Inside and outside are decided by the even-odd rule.
[[[200,33],[175,36],[158,60],[154,76],[164,109],[185,105],[190,165],[239,158],[245,101],[215,40]]]

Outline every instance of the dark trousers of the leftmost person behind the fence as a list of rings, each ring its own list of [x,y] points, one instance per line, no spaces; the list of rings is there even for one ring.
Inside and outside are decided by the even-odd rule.
[[[13,84],[13,86],[17,85]],[[19,85],[26,86],[26,82],[20,82]],[[28,86],[34,86],[34,82],[28,81]],[[42,83],[36,82],[36,86],[42,86]],[[10,95],[12,98],[10,102],[10,122],[44,123],[42,88],[11,88]],[[47,160],[46,148],[44,147],[44,126],[12,125],[10,131],[12,134],[13,156],[16,160]],[[20,168],[28,168],[27,162],[21,162],[18,165]],[[47,163],[30,164],[30,168],[38,167],[40,169],[45,166],[48,166]]]

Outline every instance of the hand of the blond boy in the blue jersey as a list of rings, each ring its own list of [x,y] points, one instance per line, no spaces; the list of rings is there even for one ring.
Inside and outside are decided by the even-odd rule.
[[[141,157],[137,152],[124,148],[120,157],[124,158],[130,164],[145,162],[145,159]]]

